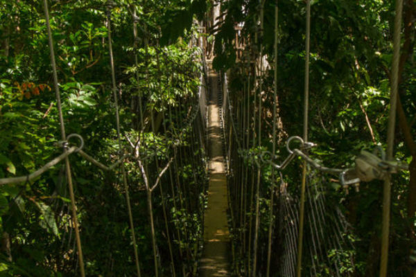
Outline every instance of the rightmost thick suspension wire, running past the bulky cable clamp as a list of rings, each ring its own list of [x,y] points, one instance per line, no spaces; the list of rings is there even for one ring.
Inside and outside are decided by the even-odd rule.
[[[393,33],[393,60],[392,60],[392,83],[390,93],[390,112],[388,119],[387,133],[387,159],[393,160],[393,148],[395,143],[395,124],[397,97],[399,87],[399,60],[400,60],[400,33],[401,17],[403,10],[403,0],[396,0],[395,30]],[[381,259],[380,259],[380,277],[387,276],[388,271],[388,236],[390,233],[390,202],[391,202],[391,175],[390,173],[384,180],[383,187],[383,224],[381,232]],[[415,274],[416,275],[416,274]]]

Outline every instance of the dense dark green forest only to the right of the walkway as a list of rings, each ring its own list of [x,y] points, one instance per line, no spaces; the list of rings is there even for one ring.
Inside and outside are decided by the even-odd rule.
[[[304,57],[306,32],[306,6],[304,1],[227,1],[222,7],[223,24],[216,34],[216,58],[214,65],[227,71],[230,77],[232,104],[236,108],[235,117],[243,124],[239,108],[247,109],[245,91],[255,87],[249,102],[257,103],[260,91],[263,102],[261,120],[253,111],[259,107],[250,106],[254,113],[254,123],[245,125],[249,132],[259,132],[261,123],[261,145],[272,149],[272,105],[275,39],[275,3],[279,8],[278,55],[277,55],[277,96],[279,138],[278,161],[286,157],[286,138],[302,135]],[[404,1],[401,35],[401,56],[399,64],[399,105],[397,111],[397,132],[395,134],[395,156],[410,163],[409,172],[396,175],[392,184],[392,222],[390,229],[390,260],[388,276],[413,276],[412,249],[415,249],[416,211],[416,152],[415,152],[415,1]],[[262,11],[263,10],[263,11]],[[263,12],[263,20],[261,20]],[[390,66],[392,64],[392,33],[395,17],[395,1],[312,1],[311,3],[311,65],[310,65],[310,141],[318,143],[311,150],[314,159],[327,166],[347,167],[354,163],[354,157],[361,149],[374,149],[381,144],[385,148],[390,101]],[[263,29],[261,29],[263,21]],[[242,22],[239,35],[245,39],[244,50],[237,58],[238,45],[235,44],[236,22]],[[257,39],[256,39],[257,37]],[[257,43],[256,43],[257,42]],[[269,66],[261,71],[260,54],[266,55]],[[248,65],[250,60],[256,61]],[[249,81],[250,79],[250,81]],[[241,106],[242,105],[242,106]],[[255,104],[254,104],[255,105]],[[250,114],[252,116],[252,114]],[[249,121],[249,122],[250,122]],[[241,134],[248,134],[241,130]],[[250,139],[252,135],[250,134]],[[257,142],[254,142],[256,145]],[[250,141],[251,145],[251,141]],[[258,143],[257,143],[258,145]],[[239,170],[238,168],[236,170]],[[239,171],[237,171],[239,172]],[[284,170],[284,180],[292,195],[300,195],[302,170],[291,167]],[[254,170],[254,176],[257,171]],[[239,175],[239,173],[237,173]],[[278,181],[270,181],[270,167],[261,172],[261,225],[259,229],[260,271],[266,274],[268,247],[268,210],[270,208],[270,186]],[[311,177],[313,179],[322,177]],[[238,181],[238,179],[237,179]],[[312,181],[313,182],[313,181]],[[377,276],[381,244],[381,207],[383,182],[362,183],[359,193],[351,190],[346,195],[337,180],[328,179],[331,189],[327,195],[329,206],[340,205],[351,224],[352,233],[348,240],[354,249],[344,249],[340,267],[345,276]],[[279,189],[277,195],[279,194]],[[328,193],[328,191],[327,191]],[[252,195],[251,197],[255,197]],[[319,196],[317,196],[319,197]],[[237,206],[238,207],[238,206]],[[275,206],[275,232],[273,234],[272,272],[281,266],[281,242],[279,238],[279,204]],[[248,209],[248,213],[252,210]],[[247,228],[247,226],[245,226]],[[253,227],[254,228],[254,227]],[[308,228],[308,227],[306,227]],[[244,230],[244,229],[243,229]],[[253,229],[254,230],[254,229]],[[309,232],[309,229],[307,232]],[[287,230],[286,230],[287,231]],[[248,231],[245,231],[247,234]],[[236,236],[239,231],[236,231]],[[236,239],[236,249],[243,242]],[[305,242],[306,244],[308,242]],[[311,246],[312,247],[312,246]],[[305,253],[308,251],[305,248]],[[352,251],[352,252],[351,252]],[[352,255],[351,255],[352,254]],[[309,255],[306,253],[305,255]],[[331,254],[327,253],[330,257]],[[236,267],[248,267],[247,255]],[[249,258],[250,259],[250,258]],[[353,260],[351,260],[353,259]],[[250,262],[250,260],[249,260]],[[309,271],[311,265],[304,265]],[[320,267],[320,265],[315,265]],[[322,265],[318,276],[334,276]],[[304,273],[307,274],[307,273]]]

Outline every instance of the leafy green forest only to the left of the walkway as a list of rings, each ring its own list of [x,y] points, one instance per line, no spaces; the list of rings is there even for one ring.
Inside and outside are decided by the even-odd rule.
[[[60,128],[43,3],[1,1],[0,6],[0,177],[11,177],[27,175],[62,150],[56,145]],[[123,149],[116,136],[107,8]],[[180,40],[160,46],[162,22],[175,8],[163,1],[110,7],[105,1],[51,1],[50,6],[67,134],[83,136],[84,151],[105,164],[119,159],[119,151],[131,152],[124,134],[133,143],[140,137],[150,186],[170,157],[179,157],[153,193],[157,270],[163,275],[182,267],[193,271],[205,191],[205,152],[197,136],[203,125],[200,117],[191,120],[201,73],[200,51],[192,46],[194,26]],[[87,276],[134,275],[121,168],[105,172],[80,157],[70,160]],[[141,274],[153,276],[145,184],[135,159],[126,160],[125,169]],[[0,192],[2,276],[78,274],[64,168],[55,166],[28,184],[1,186]]]

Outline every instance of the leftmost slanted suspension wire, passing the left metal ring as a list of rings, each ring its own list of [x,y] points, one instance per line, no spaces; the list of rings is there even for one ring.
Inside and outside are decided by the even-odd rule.
[[[46,29],[48,30],[48,41],[49,41],[49,48],[51,52],[51,65],[53,71],[53,87],[55,88],[55,97],[56,103],[58,106],[58,114],[60,120],[60,131],[62,136],[62,141],[67,140],[67,135],[65,134],[65,123],[64,123],[64,116],[62,113],[62,105],[60,100],[60,90],[58,86],[58,73],[56,70],[56,62],[55,62],[55,50],[53,48],[53,38],[51,32],[51,23],[49,21],[49,8],[48,8],[48,1],[44,0],[44,13],[46,19]],[[63,152],[67,152],[66,148],[63,148]],[[83,258],[83,247],[81,244],[80,238],[80,231],[78,229],[78,217],[76,215],[76,202],[75,202],[75,195],[73,193],[73,184],[72,184],[72,175],[71,175],[71,166],[69,164],[68,156],[64,158],[65,161],[65,170],[67,172],[67,181],[69,187],[69,197],[71,199],[71,210],[72,210],[72,220],[73,226],[75,228],[75,235],[76,235],[76,246],[78,248],[78,261],[80,263],[80,274],[81,277],[85,277],[85,267],[84,267],[84,258]]]

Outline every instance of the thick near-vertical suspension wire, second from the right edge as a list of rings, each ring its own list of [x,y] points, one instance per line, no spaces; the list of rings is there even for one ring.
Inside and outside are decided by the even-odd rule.
[[[311,0],[306,0],[306,49],[305,49],[305,80],[304,80],[304,141],[308,141],[308,118],[309,118],[309,55],[311,44]],[[296,276],[301,276],[302,271],[302,244],[304,235],[304,208],[305,208],[305,188],[307,163],[303,162],[302,166],[302,188],[300,194],[300,216],[299,216],[299,234],[297,237],[297,261]]]

